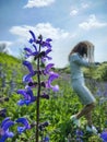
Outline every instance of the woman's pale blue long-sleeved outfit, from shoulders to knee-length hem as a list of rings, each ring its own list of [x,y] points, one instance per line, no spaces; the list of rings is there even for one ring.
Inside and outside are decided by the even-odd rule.
[[[82,67],[90,67],[90,63],[78,52],[70,56],[71,84],[83,105],[96,102],[91,91],[84,83]]]

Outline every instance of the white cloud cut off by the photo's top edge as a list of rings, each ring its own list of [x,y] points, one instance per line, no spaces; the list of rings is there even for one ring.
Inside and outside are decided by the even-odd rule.
[[[39,8],[39,7],[47,7],[54,3],[55,0],[28,0],[27,4],[24,8]]]

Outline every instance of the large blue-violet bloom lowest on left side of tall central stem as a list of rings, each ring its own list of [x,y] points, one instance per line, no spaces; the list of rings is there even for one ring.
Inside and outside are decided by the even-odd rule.
[[[29,105],[31,103],[36,100],[36,96],[33,95],[33,91],[28,87],[27,90],[19,90],[17,94],[23,95],[24,99],[20,99],[17,105]]]

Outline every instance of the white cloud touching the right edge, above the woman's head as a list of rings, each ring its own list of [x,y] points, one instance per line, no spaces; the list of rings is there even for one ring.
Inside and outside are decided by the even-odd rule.
[[[99,22],[94,14],[90,15],[86,22],[80,23],[79,26],[83,29],[99,28],[107,26],[107,23]]]

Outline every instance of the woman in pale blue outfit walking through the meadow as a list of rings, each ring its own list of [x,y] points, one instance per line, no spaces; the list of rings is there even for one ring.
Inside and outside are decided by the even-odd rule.
[[[81,111],[71,116],[71,120],[80,127],[79,119],[84,116],[87,119],[86,130],[96,133],[97,130],[92,123],[92,110],[95,107],[96,100],[91,91],[86,87],[84,75],[81,70],[82,67],[90,68],[94,64],[94,45],[90,42],[80,42],[71,50],[69,61],[72,87],[84,105]]]

